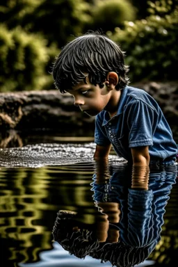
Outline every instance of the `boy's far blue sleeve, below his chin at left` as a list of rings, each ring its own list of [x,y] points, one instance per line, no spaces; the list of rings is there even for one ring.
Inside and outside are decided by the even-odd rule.
[[[101,116],[97,115],[95,118],[95,143],[97,145],[109,145],[111,142],[108,139],[104,126],[102,126],[102,122]]]

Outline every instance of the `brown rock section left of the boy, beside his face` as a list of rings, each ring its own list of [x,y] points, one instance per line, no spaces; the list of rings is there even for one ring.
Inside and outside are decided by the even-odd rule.
[[[73,105],[71,95],[58,90],[0,94],[0,129],[60,131],[94,127],[94,118]]]

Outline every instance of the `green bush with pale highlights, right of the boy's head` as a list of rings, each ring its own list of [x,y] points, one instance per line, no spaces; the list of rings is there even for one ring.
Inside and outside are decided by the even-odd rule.
[[[177,79],[178,6],[172,5],[172,1],[149,1],[149,17],[108,32],[127,52],[131,81]]]

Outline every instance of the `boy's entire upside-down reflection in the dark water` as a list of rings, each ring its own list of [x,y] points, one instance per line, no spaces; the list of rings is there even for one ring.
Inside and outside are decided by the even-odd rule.
[[[59,211],[54,240],[76,257],[90,255],[115,266],[133,266],[147,259],[161,239],[163,214],[177,166],[149,170],[131,169],[127,164],[105,167],[97,165],[91,184],[99,211],[96,223],[85,225],[79,222],[78,214]]]

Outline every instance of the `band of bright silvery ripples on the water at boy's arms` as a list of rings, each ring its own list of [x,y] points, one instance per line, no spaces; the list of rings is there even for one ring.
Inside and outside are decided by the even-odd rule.
[[[40,168],[49,165],[69,165],[93,161],[95,143],[88,144],[58,144],[46,143],[0,149],[1,167]],[[123,162],[115,154],[110,159]]]

